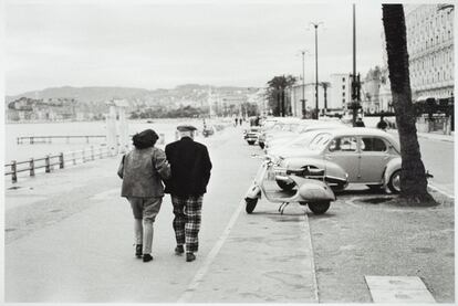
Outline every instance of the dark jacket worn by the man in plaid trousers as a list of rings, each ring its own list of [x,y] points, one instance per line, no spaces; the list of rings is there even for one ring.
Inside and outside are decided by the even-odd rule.
[[[170,179],[166,181],[166,193],[188,197],[207,192],[211,161],[206,146],[183,137],[168,144],[165,152],[171,170]]]

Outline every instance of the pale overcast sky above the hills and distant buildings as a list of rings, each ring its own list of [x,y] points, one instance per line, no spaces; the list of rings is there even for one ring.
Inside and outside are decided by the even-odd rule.
[[[356,2],[356,65],[382,64],[379,2]],[[352,2],[7,0],[4,92],[60,86],[262,87],[353,68]]]

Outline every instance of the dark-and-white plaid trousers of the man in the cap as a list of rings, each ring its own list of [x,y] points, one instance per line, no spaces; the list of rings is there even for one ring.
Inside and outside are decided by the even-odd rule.
[[[204,196],[178,197],[171,196],[174,205],[174,230],[177,244],[186,244],[187,252],[199,249],[199,230]]]

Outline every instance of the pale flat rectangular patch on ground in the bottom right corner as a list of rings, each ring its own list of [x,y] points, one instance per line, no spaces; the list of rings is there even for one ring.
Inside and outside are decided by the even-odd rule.
[[[436,303],[417,276],[364,276],[374,303]]]

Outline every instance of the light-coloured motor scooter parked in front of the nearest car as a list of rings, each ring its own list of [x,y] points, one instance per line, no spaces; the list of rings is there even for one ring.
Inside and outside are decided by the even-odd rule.
[[[253,155],[253,157],[260,157]],[[252,213],[258,200],[261,199],[261,194],[266,197],[269,202],[281,203],[278,211],[283,214],[283,210],[291,202],[298,202],[301,205],[308,205],[314,214],[322,214],[327,211],[331,205],[331,201],[335,201],[335,194],[332,189],[324,181],[324,169],[311,169],[309,167],[301,169],[282,169],[275,166],[272,157],[266,155],[261,157],[263,159],[252,184],[247,191],[246,211]],[[277,189],[272,190],[266,187],[266,180],[268,178],[281,179],[275,175],[277,171],[287,172],[288,178],[292,179],[295,183],[295,189],[291,192],[293,194],[281,194],[282,192]],[[283,178],[284,179],[284,178]]]

